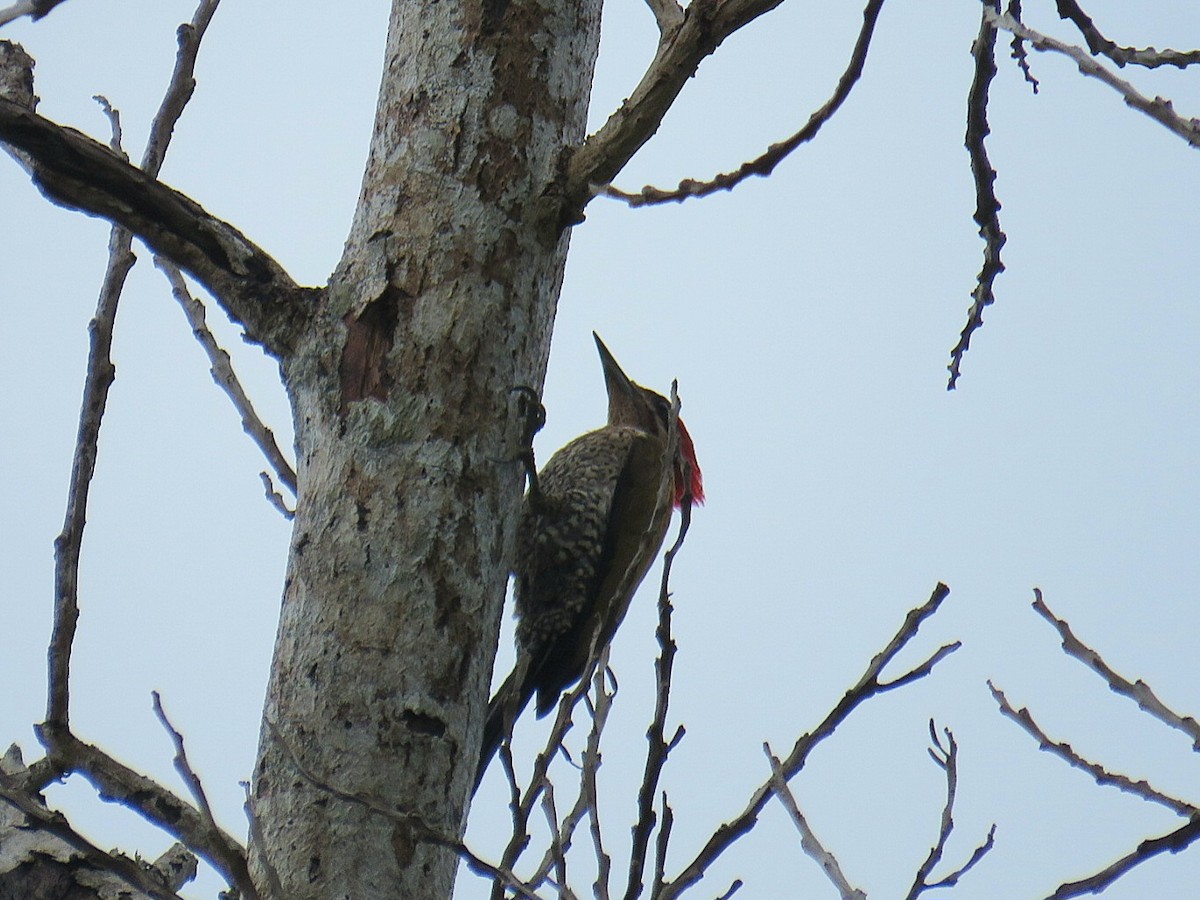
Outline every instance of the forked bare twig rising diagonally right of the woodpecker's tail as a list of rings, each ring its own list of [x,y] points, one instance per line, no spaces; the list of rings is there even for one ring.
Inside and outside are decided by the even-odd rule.
[[[904,624],[900,626],[900,630],[888,642],[887,647],[871,659],[866,671],[863,673],[862,678],[858,679],[858,683],[846,691],[846,695],[838,702],[824,720],[812,732],[802,734],[797,738],[791,754],[788,754],[787,758],[781,763],[785,780],[792,778],[804,767],[812,749],[816,748],[822,740],[832,736],[834,731],[836,731],[838,726],[841,725],[841,722],[844,722],[859,704],[877,694],[884,692],[889,688],[908,683],[912,680],[910,676],[912,676],[913,672],[922,671],[928,674],[938,660],[944,659],[944,656],[958,646],[955,643],[941,648],[929,660],[922,664],[922,666],[918,666],[908,674],[901,676],[887,685],[880,683],[880,674],[883,671],[883,667],[887,666],[888,662],[890,662],[896,654],[900,653],[900,650],[904,649],[904,647],[907,646],[907,643],[917,635],[922,623],[937,612],[949,593],[950,589],[948,587],[944,584],[937,584],[929,600],[908,612],[905,617]],[[754,794],[751,794],[746,808],[733,820],[718,828],[709,836],[704,846],[700,850],[695,858],[692,858],[692,860],[684,866],[679,875],[677,875],[673,881],[662,886],[662,890],[660,893],[661,900],[671,900],[671,898],[678,896],[700,881],[704,876],[708,868],[713,865],[713,863],[715,863],[726,850],[728,850],[737,840],[750,833],[755,824],[757,824],[758,815],[762,812],[763,808],[772,799],[772,797],[774,797],[774,778],[761,785]]]

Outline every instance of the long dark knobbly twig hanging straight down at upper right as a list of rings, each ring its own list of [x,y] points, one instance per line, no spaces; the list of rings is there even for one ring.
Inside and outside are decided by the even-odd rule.
[[[954,390],[962,367],[962,356],[971,347],[971,337],[983,328],[983,311],[995,302],[992,283],[996,276],[1004,271],[1000,251],[1007,238],[1000,228],[1000,200],[996,199],[996,169],[988,158],[984,138],[991,133],[988,125],[988,90],[991,79],[996,77],[996,24],[995,13],[1000,10],[1000,0],[984,0],[983,18],[979,23],[979,35],[971,47],[974,56],[974,78],[967,94],[967,136],[966,148],[971,157],[971,175],[976,186],[974,221],[983,238],[983,266],[971,292],[971,307],[967,310],[967,322],[962,326],[959,341],[950,350],[950,372],[947,390]]]

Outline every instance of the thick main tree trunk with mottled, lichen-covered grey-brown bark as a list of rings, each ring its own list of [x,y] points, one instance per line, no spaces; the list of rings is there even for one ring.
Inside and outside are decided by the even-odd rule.
[[[545,372],[599,19],[394,5],[346,254],[282,360],[300,498],[253,856],[288,900],[451,893],[430,835],[464,824],[522,490],[511,391]]]

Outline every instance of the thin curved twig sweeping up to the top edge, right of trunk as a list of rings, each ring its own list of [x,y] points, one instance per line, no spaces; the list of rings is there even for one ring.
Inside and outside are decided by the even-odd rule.
[[[673,1],[674,0],[670,0],[670,2]],[[787,158],[800,144],[812,140],[812,138],[817,136],[817,132],[821,131],[821,127],[833,118],[834,113],[841,108],[841,104],[850,96],[854,84],[858,83],[858,79],[863,74],[863,66],[866,64],[866,53],[870,49],[871,37],[875,34],[875,23],[878,20],[880,11],[882,8],[883,0],[868,1],[866,8],[863,10],[863,28],[858,32],[858,40],[856,41],[854,49],[850,56],[850,64],[847,65],[841,78],[838,79],[838,86],[834,90],[833,96],[829,97],[829,100],[827,100],[820,109],[809,116],[809,121],[803,128],[792,134],[790,138],[786,138],[778,144],[772,144],[767,148],[766,152],[757,158],[742,163],[742,166],[733,172],[716,175],[709,181],[684,179],[676,188],[670,191],[652,187],[650,185],[647,185],[637,193],[626,193],[613,185],[605,185],[599,190],[605,196],[624,200],[630,206],[644,206],[648,204],[668,202],[679,203],[691,197],[707,197],[716,191],[732,191],[737,185],[745,181],[751,175],[761,175],[762,178],[770,175],[770,173],[775,170],[775,167]]]

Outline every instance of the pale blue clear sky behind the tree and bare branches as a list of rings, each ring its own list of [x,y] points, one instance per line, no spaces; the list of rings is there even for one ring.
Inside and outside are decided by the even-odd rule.
[[[1049,0],[1025,6],[1031,25],[1078,42]],[[1190,0],[1085,6],[1118,43],[1200,46]],[[104,138],[91,101],[103,94],[139,156],[174,29],[191,14],[187,0],[71,0],[0,37],[37,59],[44,115]],[[323,283],[342,250],[385,16],[383,0],[336,13],[227,0],[163,169],[305,283]],[[732,37],[619,185],[708,178],[798,128],[832,92],[860,20],[858,4],[788,0]],[[769,180],[680,206],[598,200],[572,236],[539,454],[602,421],[595,329],[635,379],[662,391],[679,379],[709,497],[673,578],[672,718],[688,737],[665,780],[678,842],[668,874],[767,776],[762,742],[781,752],[812,728],[937,581],[953,593],[901,662],[950,640],[962,649],[856,713],[793,782],[852,883],[902,895],[936,835],[943,785],[925,754],[930,718],[960,744],[949,862],[998,826],[959,896],[1044,896],[1182,824],[1038,752],[998,715],[988,678],[1091,758],[1200,803],[1187,739],[1067,659],[1030,610],[1040,587],[1115,668],[1200,716],[1200,156],[1068,60],[1032,55],[1033,96],[1002,47],[989,151],[1008,271],[947,392],[982,246],[962,148],[977,29],[977,4],[894,0],[862,84]],[[642,4],[611,0],[594,124],[628,96],[654,40]],[[1196,72],[1122,77],[1200,115]],[[17,740],[32,758],[52,545],[108,228],[49,206],[11,163],[0,166],[0,743]],[[275,367],[217,311],[210,319],[289,440]],[[263,500],[258,451],[144,251],[114,359],[84,540],[73,720],[82,737],[182,791],[150,709],[160,690],[221,820],[241,834],[238,781],[253,764],[288,526]],[[622,692],[604,772],[618,859],[650,713],[653,625],[643,590],[613,649]],[[540,734],[518,728],[518,751]],[[52,797],[102,846],[154,857],[168,842],[85,786]],[[505,821],[490,780],[469,841],[496,856]],[[734,876],[748,899],[835,895],[774,805],[697,896]],[[1198,882],[1193,848],[1106,896],[1190,896]],[[469,878],[461,887],[485,895]],[[188,895],[217,889],[208,872]]]

